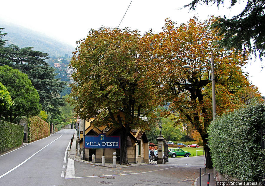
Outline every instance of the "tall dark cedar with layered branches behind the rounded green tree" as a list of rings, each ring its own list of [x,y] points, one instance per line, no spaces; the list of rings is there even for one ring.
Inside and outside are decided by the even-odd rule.
[[[64,106],[65,102],[62,98],[57,97],[64,89],[65,82],[55,79],[55,68],[50,67],[45,61],[48,59],[48,54],[32,50],[33,47],[19,48],[16,45],[10,45],[1,48],[4,48],[5,55],[4,62],[1,62],[0,65],[8,64],[27,74],[39,93],[39,103],[42,105],[42,109],[48,113],[60,114],[59,107]]]

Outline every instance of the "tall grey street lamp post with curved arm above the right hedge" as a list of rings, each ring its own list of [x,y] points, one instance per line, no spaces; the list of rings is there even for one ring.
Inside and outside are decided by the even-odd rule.
[[[212,82],[212,97],[213,97],[213,121],[216,116],[216,105],[215,105],[215,79],[214,79],[214,65],[213,65],[213,55],[211,56],[212,58],[212,69],[204,69],[204,68],[194,68],[190,67],[190,65],[183,65],[182,68],[193,68],[193,69],[198,69],[198,70],[206,70],[209,72],[209,80]]]

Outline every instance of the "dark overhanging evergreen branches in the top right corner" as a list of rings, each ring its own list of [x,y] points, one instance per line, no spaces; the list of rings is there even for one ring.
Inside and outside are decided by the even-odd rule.
[[[217,7],[223,4],[223,0],[193,0],[190,4],[184,7],[190,7],[190,10],[195,10],[197,4],[217,3]],[[235,6],[240,0],[231,0],[231,5]],[[220,35],[223,35],[223,40],[219,43],[228,49],[249,49],[258,50],[261,58],[265,53],[265,0],[248,0],[245,9],[237,16],[231,19],[219,18],[213,23],[213,28],[218,28]],[[251,45],[253,42],[253,47]],[[253,50],[254,49],[254,50]],[[246,50],[245,50],[246,51]]]

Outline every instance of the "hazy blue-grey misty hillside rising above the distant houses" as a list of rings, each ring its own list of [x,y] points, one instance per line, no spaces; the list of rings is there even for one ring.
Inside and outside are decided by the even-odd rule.
[[[4,40],[8,40],[6,45],[14,44],[20,48],[34,47],[33,50],[48,53],[49,57],[64,56],[65,54],[72,56],[72,52],[75,49],[73,46],[20,26],[0,21],[0,28],[4,28],[2,30],[3,33],[8,33],[3,37]]]

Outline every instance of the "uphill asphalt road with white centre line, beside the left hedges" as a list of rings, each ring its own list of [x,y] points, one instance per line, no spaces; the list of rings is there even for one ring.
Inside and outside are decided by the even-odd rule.
[[[64,129],[0,155],[0,185],[63,185],[74,131]]]

